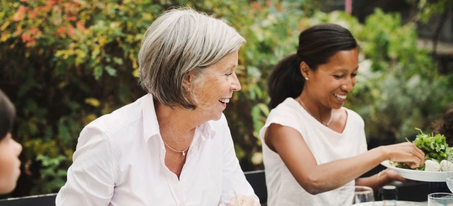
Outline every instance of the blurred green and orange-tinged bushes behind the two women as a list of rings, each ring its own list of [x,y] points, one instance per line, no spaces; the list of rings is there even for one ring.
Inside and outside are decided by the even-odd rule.
[[[145,94],[137,83],[140,40],[175,5],[226,19],[247,40],[237,72],[242,90],[225,111],[245,171],[263,167],[258,132],[269,114],[270,69],[296,51],[311,25],[340,24],[359,40],[359,76],[346,106],[363,117],[367,136],[428,131],[453,101],[453,77],[416,47],[416,24],[381,10],[361,24],[318,11],[316,0],[0,1],[0,87],[16,105],[14,136],[24,147],[12,196],[58,192],[83,126]]]

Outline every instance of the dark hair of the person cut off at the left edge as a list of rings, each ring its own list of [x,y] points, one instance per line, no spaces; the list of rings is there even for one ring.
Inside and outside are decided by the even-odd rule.
[[[16,110],[10,99],[0,90],[0,141],[13,130]]]

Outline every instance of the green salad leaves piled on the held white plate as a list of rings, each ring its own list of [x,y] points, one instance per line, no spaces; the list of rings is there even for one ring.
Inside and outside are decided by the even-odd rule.
[[[426,160],[434,160],[438,163],[442,160],[448,160],[448,157],[453,155],[453,149],[448,147],[447,142],[445,141],[445,136],[443,134],[424,134],[423,131],[419,128],[415,128],[420,131],[412,142],[416,147],[421,149],[425,153]],[[406,140],[410,142],[407,138]],[[404,163],[393,163],[397,168],[410,169],[409,166]],[[424,170],[424,166],[415,168],[416,170]]]

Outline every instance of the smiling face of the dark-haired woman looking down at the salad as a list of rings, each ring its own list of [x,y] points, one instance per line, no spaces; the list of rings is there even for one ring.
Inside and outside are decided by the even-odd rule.
[[[356,85],[357,69],[357,48],[339,51],[327,63],[319,65],[316,71],[303,69],[304,77],[308,77],[304,90],[323,107],[341,108],[352,87]]]

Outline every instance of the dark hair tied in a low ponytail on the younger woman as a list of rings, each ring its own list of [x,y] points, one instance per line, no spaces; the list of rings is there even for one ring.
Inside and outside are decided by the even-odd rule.
[[[304,88],[305,79],[300,72],[300,63],[305,62],[315,71],[335,53],[357,48],[356,39],[349,30],[337,24],[319,24],[304,30],[299,35],[297,53],[285,57],[270,74],[268,89],[269,108],[274,109],[286,98],[295,98]]]

